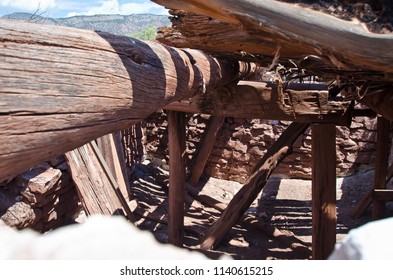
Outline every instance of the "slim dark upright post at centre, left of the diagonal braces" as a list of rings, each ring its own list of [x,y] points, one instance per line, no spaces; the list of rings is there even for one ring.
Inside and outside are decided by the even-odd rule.
[[[186,144],[185,114],[168,112],[169,137],[169,211],[168,239],[176,246],[183,246],[185,211],[185,165]]]

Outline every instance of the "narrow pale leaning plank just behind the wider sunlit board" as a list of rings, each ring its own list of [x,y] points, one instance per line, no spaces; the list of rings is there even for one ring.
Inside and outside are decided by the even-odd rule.
[[[125,156],[121,147],[120,134],[107,134],[98,138],[96,142],[109,170],[119,185],[122,195],[128,201],[130,199],[130,184],[125,167]]]

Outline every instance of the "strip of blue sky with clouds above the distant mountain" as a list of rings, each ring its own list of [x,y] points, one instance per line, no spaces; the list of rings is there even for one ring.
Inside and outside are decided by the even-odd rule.
[[[96,14],[167,14],[149,0],[0,0],[0,16],[14,12],[33,13],[59,18]]]

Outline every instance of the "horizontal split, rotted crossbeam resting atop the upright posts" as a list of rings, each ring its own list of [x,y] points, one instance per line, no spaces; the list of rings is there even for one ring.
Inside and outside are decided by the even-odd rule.
[[[240,81],[173,102],[165,108],[189,113],[204,113],[248,119],[274,119],[296,122],[334,122],[348,125],[351,120],[348,101],[329,99],[324,84],[265,83]]]

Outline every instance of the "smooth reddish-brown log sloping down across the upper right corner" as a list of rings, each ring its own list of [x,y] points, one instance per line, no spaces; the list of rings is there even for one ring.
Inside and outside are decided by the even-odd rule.
[[[251,49],[247,48],[248,44],[244,44],[240,49],[239,44],[234,44],[234,52],[241,50],[253,54],[272,55],[272,49],[275,49],[283,57],[291,57],[296,53],[316,54],[341,69],[353,68],[355,65],[359,68],[393,72],[393,35],[371,33],[356,21],[341,20],[299,5],[274,0],[212,0],[209,1],[209,5],[203,0],[154,2],[168,8],[195,12],[240,25],[251,36],[262,41],[254,39],[256,45]],[[204,30],[202,27],[199,29]],[[191,32],[188,35],[187,38],[191,38],[194,34]],[[210,37],[195,39],[206,45],[206,39]],[[232,39],[227,42],[237,42],[236,38]],[[217,51],[222,44],[224,43],[215,44]],[[193,47],[192,44],[188,47],[190,46]]]

